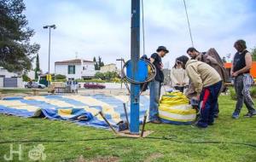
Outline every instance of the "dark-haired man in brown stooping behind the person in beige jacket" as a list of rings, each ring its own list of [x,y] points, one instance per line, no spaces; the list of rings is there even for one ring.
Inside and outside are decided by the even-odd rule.
[[[207,53],[202,54],[198,50],[196,50],[194,47],[190,47],[189,49],[187,49],[187,54],[190,56],[191,59],[205,62],[209,66],[213,67],[218,72],[218,74],[220,75],[223,81],[220,92],[224,91],[225,89],[224,83],[226,82],[228,75],[224,68],[223,61],[218,55],[218,52],[215,49],[209,49]],[[189,89],[187,90],[186,95],[190,99],[195,97],[195,88],[192,83],[189,84]],[[219,109],[217,104],[214,110],[214,118],[218,118],[218,113],[219,113]]]

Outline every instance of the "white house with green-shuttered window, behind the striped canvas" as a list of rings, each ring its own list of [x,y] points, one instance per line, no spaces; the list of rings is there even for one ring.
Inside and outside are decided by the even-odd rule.
[[[93,78],[96,74],[95,62],[83,59],[56,61],[55,75],[65,75],[68,79]]]

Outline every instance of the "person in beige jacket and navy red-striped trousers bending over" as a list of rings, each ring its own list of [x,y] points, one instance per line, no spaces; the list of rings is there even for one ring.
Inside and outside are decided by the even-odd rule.
[[[189,60],[183,55],[177,58],[182,63],[191,82],[195,86],[197,100],[199,101],[200,118],[196,126],[207,128],[214,122],[214,109],[218,104],[218,94],[221,90],[222,79],[218,72],[207,63]]]

